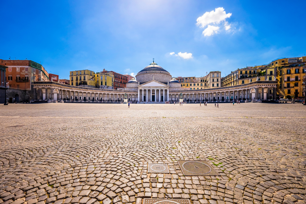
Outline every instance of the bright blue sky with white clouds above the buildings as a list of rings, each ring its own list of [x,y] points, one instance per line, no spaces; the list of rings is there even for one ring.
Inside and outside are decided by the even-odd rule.
[[[0,58],[49,73],[136,74],[155,62],[174,77],[204,76],[300,57],[306,1],[0,1]]]

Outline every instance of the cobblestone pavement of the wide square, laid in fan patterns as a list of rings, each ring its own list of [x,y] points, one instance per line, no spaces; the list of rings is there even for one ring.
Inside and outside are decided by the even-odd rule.
[[[0,106],[0,203],[306,203],[306,106],[219,106]],[[177,160],[221,176],[184,176]]]

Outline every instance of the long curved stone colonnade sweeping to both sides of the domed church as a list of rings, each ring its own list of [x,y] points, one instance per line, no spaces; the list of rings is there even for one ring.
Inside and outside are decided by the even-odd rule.
[[[178,102],[180,94],[184,102],[221,102],[232,100],[267,100],[276,97],[276,81],[255,81],[247,84],[215,87],[198,90],[171,90],[168,87],[159,91],[157,102]],[[79,102],[121,102],[127,94],[127,98],[132,102],[152,101],[152,95],[149,91],[138,89],[138,91],[129,90],[110,90],[88,87],[71,86],[57,82],[39,81],[32,83],[34,91],[34,100],[64,100]],[[141,94],[142,97],[139,97]],[[165,95],[161,97],[160,95]],[[168,94],[168,97],[167,97]],[[139,98],[138,98],[139,97]]]

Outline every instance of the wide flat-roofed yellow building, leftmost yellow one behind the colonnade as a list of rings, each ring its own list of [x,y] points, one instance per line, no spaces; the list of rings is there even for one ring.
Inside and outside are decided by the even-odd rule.
[[[70,85],[79,86],[87,85],[88,87],[96,87],[96,82],[94,79],[95,72],[88,69],[77,70],[70,72]]]

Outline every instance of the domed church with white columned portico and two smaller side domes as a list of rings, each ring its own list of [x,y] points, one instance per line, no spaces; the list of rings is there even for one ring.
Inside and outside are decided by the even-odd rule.
[[[130,80],[124,90],[138,91],[138,101],[164,102],[169,101],[167,97],[170,91],[186,90],[181,88],[181,83],[154,60],[149,66],[137,73],[136,79]]]

